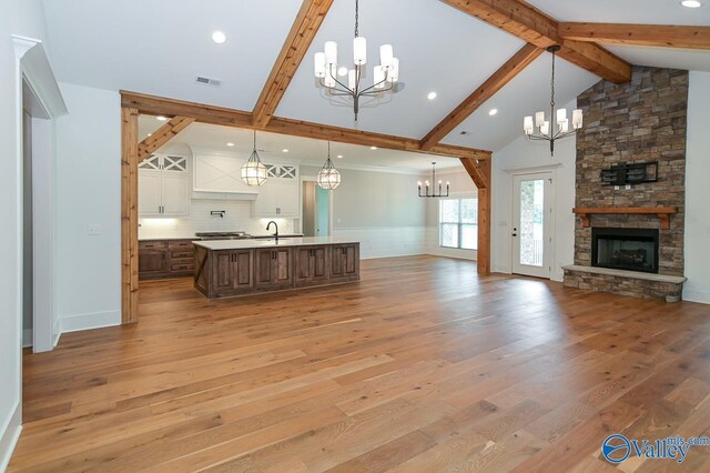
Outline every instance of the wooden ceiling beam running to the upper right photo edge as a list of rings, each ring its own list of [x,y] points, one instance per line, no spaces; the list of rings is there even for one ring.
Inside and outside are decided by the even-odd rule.
[[[710,49],[710,27],[668,24],[559,23],[565,40],[605,44]]]

